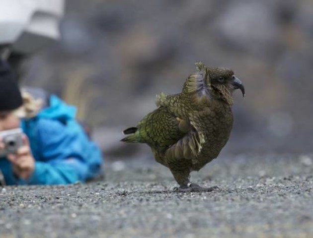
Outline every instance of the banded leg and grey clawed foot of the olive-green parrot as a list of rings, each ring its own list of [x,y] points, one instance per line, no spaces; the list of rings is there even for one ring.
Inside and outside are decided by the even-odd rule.
[[[179,168],[179,170],[176,170],[174,168],[170,169],[172,172],[174,179],[179,184],[179,187],[175,188],[175,191],[178,192],[212,192],[214,190],[220,190],[218,186],[213,187],[201,187],[200,185],[190,182],[190,172],[189,169],[185,168],[184,170],[182,168]]]

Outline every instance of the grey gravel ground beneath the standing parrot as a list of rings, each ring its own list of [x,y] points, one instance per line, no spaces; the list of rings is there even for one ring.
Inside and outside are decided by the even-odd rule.
[[[0,191],[10,237],[313,237],[310,156],[219,158],[192,176],[210,193],[174,192],[156,163],[106,163],[106,178]]]

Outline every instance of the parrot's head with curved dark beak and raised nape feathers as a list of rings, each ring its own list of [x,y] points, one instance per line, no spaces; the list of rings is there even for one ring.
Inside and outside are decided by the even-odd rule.
[[[240,89],[244,97],[244,87],[235,76],[234,71],[221,67],[208,67],[202,62],[196,62],[198,71],[202,74],[203,84],[210,96],[233,104],[233,91]]]

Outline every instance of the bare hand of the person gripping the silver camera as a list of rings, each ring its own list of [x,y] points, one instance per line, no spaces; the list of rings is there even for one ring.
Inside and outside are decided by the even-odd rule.
[[[31,153],[28,138],[22,135],[23,146],[18,148],[16,154],[9,154],[7,159],[12,163],[15,176],[21,179],[29,179],[35,169],[35,159]]]

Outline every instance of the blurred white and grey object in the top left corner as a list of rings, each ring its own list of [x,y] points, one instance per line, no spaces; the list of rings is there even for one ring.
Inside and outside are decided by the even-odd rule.
[[[64,0],[0,0],[0,45],[33,53],[59,39]]]

